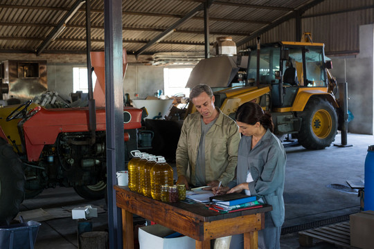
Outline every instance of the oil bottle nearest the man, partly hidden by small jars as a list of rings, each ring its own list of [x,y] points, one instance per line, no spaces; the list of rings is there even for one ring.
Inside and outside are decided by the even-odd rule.
[[[157,163],[150,170],[151,194],[155,200],[161,200],[161,186],[173,184],[172,167],[163,156],[157,156]]]

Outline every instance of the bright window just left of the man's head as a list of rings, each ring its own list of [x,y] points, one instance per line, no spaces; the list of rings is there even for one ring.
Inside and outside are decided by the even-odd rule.
[[[164,95],[190,95],[190,89],[186,88],[188,77],[193,70],[190,68],[163,68],[163,88]]]

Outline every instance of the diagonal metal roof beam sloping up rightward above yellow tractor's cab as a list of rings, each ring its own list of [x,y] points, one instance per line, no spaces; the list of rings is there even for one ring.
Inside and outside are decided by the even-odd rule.
[[[273,23],[265,26],[265,28],[261,28],[260,30],[256,31],[255,33],[252,33],[247,38],[242,39],[240,42],[237,42],[236,45],[237,46],[242,46],[243,44],[246,44],[247,42],[251,41],[251,39],[255,39],[259,35],[262,35],[263,33],[271,30],[271,28],[275,28],[279,24],[283,24],[285,21],[288,21],[288,20],[290,20],[292,18],[295,18],[296,17],[296,13],[300,13],[300,15],[302,15],[303,12],[305,12],[306,10],[308,10],[308,9],[316,6],[319,3],[322,3],[323,1],[325,1],[325,0],[314,0],[314,1],[311,1],[310,3],[308,3],[308,4],[305,4],[304,6],[301,6],[299,9],[294,10],[291,13],[289,13],[287,15],[284,15],[280,19],[277,19]]]

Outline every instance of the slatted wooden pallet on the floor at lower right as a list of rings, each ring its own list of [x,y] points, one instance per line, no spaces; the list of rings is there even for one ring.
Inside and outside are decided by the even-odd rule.
[[[313,239],[326,241],[341,248],[355,248],[350,246],[349,221],[299,232],[300,246],[312,246]]]

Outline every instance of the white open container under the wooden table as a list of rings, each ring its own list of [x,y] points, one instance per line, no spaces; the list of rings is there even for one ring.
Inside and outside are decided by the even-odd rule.
[[[187,236],[166,239],[175,233],[162,225],[147,225],[139,228],[140,249],[191,249],[195,248],[195,239]]]

